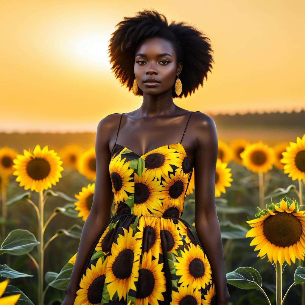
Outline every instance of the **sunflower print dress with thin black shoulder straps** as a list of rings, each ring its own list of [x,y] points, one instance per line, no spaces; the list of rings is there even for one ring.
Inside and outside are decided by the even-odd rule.
[[[193,172],[182,139],[143,156],[115,143],[115,215],[92,248],[74,305],[217,304],[203,246],[181,219]]]

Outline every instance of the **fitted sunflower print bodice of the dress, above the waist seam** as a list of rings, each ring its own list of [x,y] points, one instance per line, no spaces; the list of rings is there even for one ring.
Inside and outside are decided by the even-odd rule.
[[[109,163],[115,213],[181,218],[192,171],[181,142],[143,156],[115,144]]]

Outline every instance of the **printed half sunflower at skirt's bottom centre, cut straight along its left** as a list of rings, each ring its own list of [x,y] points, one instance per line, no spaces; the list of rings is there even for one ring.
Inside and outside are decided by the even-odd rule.
[[[166,291],[166,279],[162,268],[163,263],[158,264],[158,259],[152,260],[151,252],[143,253],[135,305],[158,304],[158,300],[164,301],[162,292]]]

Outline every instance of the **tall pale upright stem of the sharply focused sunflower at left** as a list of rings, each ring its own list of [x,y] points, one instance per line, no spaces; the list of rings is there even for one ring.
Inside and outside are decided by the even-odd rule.
[[[43,191],[39,192],[39,222],[38,222],[38,241],[40,242],[38,247],[38,305],[43,305],[43,260],[44,260],[44,244],[43,244],[43,235],[44,235],[44,224],[43,224]]]

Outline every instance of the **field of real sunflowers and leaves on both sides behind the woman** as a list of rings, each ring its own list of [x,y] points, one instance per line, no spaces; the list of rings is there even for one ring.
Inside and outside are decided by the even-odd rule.
[[[0,147],[0,304],[62,303],[95,172],[93,145]],[[194,172],[181,219],[196,232]],[[231,304],[305,304],[304,183],[305,134],[273,146],[218,140],[215,198]],[[93,257],[101,252],[97,246]],[[99,259],[84,275],[75,304],[92,304],[90,287],[104,267]],[[213,286],[197,303],[217,304],[215,294]]]

